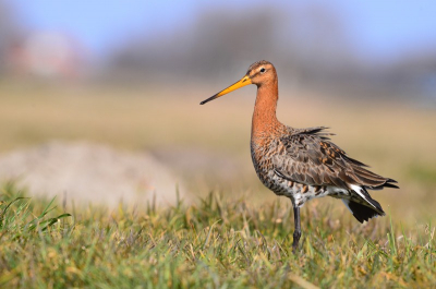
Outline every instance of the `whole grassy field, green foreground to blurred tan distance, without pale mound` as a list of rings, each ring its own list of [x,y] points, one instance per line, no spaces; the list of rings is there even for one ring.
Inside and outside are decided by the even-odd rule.
[[[7,183],[0,191],[0,287],[436,284],[434,110],[382,97],[281,94],[283,123],[330,127],[335,143],[401,188],[372,193],[388,216],[365,225],[341,202],[311,201],[293,255],[290,202],[263,188],[251,164],[255,89],[198,106],[220,88],[0,83],[0,153],[53,139],[147,150],[182,174],[194,195],[175,207],[120,204],[110,210],[63,204],[62,197],[52,204],[17,198],[33,194]]]

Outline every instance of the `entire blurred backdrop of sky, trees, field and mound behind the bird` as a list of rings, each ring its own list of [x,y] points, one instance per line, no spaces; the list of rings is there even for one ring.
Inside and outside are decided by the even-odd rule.
[[[198,105],[265,59],[279,120],[331,128],[399,181],[373,192],[388,213],[434,219],[435,15],[423,0],[0,0],[0,178],[112,205],[272,202],[250,156],[255,86]]]

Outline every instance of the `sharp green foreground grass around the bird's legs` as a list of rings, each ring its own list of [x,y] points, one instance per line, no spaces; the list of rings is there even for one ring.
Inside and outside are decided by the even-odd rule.
[[[286,198],[219,194],[195,205],[64,207],[1,189],[1,288],[431,288],[433,224],[366,225],[308,203],[292,254]],[[71,216],[65,212],[71,213]]]

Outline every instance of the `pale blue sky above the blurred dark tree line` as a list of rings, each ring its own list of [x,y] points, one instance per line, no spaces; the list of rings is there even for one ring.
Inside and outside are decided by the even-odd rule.
[[[159,34],[181,26],[214,5],[228,9],[261,1],[9,0],[21,21],[34,29],[66,32],[93,53],[135,34]],[[413,49],[436,48],[436,1],[295,0],[296,5],[328,4],[342,17],[361,55],[391,57]],[[287,1],[269,1],[290,9]]]

